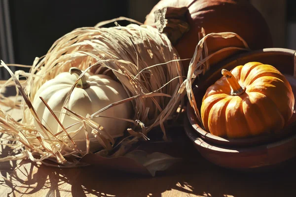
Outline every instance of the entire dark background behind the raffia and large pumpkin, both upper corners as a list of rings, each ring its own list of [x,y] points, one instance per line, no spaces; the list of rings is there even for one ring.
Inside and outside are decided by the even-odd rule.
[[[120,16],[144,23],[159,0],[0,0],[0,3],[4,1],[9,7],[13,55],[9,60],[0,59],[6,63],[32,65],[35,57],[45,55],[56,39],[75,28],[95,26]],[[266,19],[274,47],[296,50],[296,0],[249,1]],[[3,69],[0,72],[3,73]],[[0,74],[0,79],[7,77]]]

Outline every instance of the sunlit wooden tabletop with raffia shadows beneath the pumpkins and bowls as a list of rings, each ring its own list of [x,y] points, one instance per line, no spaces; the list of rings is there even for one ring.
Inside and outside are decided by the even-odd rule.
[[[5,94],[13,95],[9,91]],[[18,112],[13,109],[7,113],[17,117]],[[184,131],[179,132],[184,136]],[[153,178],[110,172],[97,166],[60,169],[29,160],[0,163],[0,197],[296,196],[296,159],[272,171],[238,172],[209,163],[188,143],[184,161]],[[5,146],[0,146],[0,151],[1,157],[11,153]]]

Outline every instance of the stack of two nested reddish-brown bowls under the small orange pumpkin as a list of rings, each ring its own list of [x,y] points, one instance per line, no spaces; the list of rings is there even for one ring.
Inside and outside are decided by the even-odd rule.
[[[296,96],[296,51],[289,49],[263,49],[241,54],[211,67],[199,81],[194,83],[193,93],[200,110],[202,98],[207,88],[221,78],[223,68],[231,70],[235,66],[248,62],[261,62],[275,66],[286,75]],[[196,149],[210,162],[232,169],[254,169],[273,166],[296,156],[296,112],[289,124],[279,133],[265,134],[256,137],[230,139],[218,137],[202,128],[187,104],[187,117],[184,126],[186,135],[193,141]]]

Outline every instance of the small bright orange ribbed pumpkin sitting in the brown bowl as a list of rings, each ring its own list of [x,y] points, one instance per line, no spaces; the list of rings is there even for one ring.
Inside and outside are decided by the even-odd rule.
[[[250,62],[210,86],[202,101],[206,131],[239,138],[280,131],[294,110],[292,88],[275,67]]]

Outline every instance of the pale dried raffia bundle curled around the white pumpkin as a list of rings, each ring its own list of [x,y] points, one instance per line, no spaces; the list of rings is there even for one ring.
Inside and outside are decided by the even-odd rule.
[[[116,20],[125,19],[118,18]],[[48,159],[58,163],[59,167],[75,167],[84,164],[79,164],[79,159],[68,161],[67,158],[81,158],[89,153],[90,141],[101,143],[105,149],[97,154],[103,156],[108,156],[108,150],[120,146],[119,150],[111,155],[120,156],[126,153],[127,147],[140,138],[148,140],[146,136],[148,131],[156,126],[161,126],[164,137],[166,136],[164,122],[174,118],[176,109],[180,104],[183,104],[185,94],[185,91],[179,91],[179,88],[185,84],[184,71],[179,56],[167,36],[158,33],[152,27],[129,25],[127,27],[99,28],[99,26],[110,22],[114,22],[114,20],[101,22],[96,27],[79,28],[67,33],[53,43],[45,56],[35,59],[30,73],[16,72],[15,75],[10,73],[23,96],[23,100],[18,105],[21,106],[24,117],[21,123],[15,124],[13,118],[1,112],[0,127],[2,132],[8,134],[7,139],[17,145],[22,144],[22,146],[11,146],[18,147],[20,150],[20,154],[15,156],[17,158],[6,157],[0,161],[29,158],[35,162],[48,164],[44,161]],[[2,65],[5,64],[2,63]],[[4,67],[9,70],[6,65]],[[60,116],[57,116],[56,120],[57,124],[61,124],[63,118],[69,116],[76,120],[81,127],[76,131],[70,131],[71,126],[60,127],[60,132],[53,134],[47,129],[46,124],[41,124],[31,103],[42,84],[61,72],[68,72],[71,67],[77,67],[84,71],[68,93],[63,108],[57,112]],[[69,110],[67,108],[68,102],[74,87],[78,80],[89,71],[95,74],[108,73],[124,86],[130,98],[112,103],[86,117]],[[18,82],[17,78],[20,75],[27,77],[25,88],[22,88]],[[1,101],[12,105],[7,98]],[[134,117],[131,120],[126,120],[131,123],[127,128],[131,135],[125,136],[119,144],[113,146],[114,137],[118,136],[111,136],[92,119],[100,117],[102,111],[122,102],[132,102],[134,107]],[[116,119],[116,117],[108,118]],[[42,130],[37,130],[34,127],[34,119],[41,124]],[[87,127],[92,129],[92,136],[87,135]],[[81,141],[73,139],[73,136],[79,131],[86,135],[85,151],[72,147],[75,142]],[[1,140],[1,143],[6,144],[7,140],[5,142],[4,140]]]

